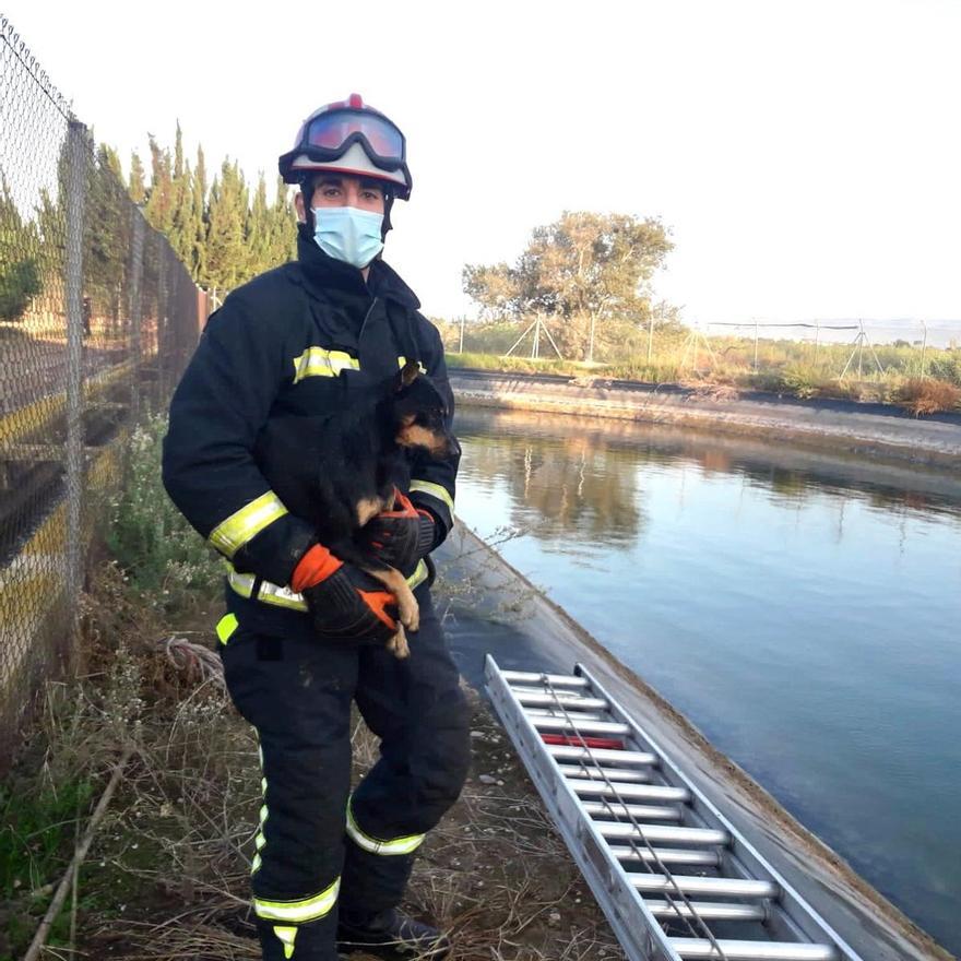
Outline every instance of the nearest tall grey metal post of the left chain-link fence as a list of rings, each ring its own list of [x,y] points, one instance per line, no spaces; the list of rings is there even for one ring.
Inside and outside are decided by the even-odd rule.
[[[72,660],[83,586],[83,217],[90,164],[86,126],[67,128],[67,636]]]

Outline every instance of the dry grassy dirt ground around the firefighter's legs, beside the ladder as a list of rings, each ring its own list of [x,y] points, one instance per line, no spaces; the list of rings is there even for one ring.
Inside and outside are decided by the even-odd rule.
[[[31,796],[79,778],[93,790],[76,828],[60,832],[46,875],[29,869],[16,879],[0,911],[0,959],[22,957],[124,747],[134,752],[121,787],[41,957],[259,957],[248,865],[260,771],[216,655],[203,654],[214,648],[218,606],[157,612],[131,596],[116,569],[98,574],[86,605],[84,677],[48,692],[9,782]],[[468,696],[471,776],[422,847],[407,910],[451,934],[452,961],[622,959],[507,736],[479,696]],[[377,750],[359,721],[354,746],[359,776]],[[29,839],[25,845],[33,850]],[[39,861],[35,850],[29,857]]]

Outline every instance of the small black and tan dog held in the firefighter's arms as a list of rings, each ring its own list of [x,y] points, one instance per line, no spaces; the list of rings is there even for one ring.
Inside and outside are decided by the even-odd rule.
[[[313,524],[335,557],[396,597],[398,632],[387,646],[398,657],[410,653],[405,629],[419,627],[417,601],[404,576],[358,535],[376,514],[394,509],[399,491],[410,486],[412,452],[432,459],[460,453],[447,417],[440,391],[407,361],[337,414],[270,418],[254,444],[254,460],[287,510]]]

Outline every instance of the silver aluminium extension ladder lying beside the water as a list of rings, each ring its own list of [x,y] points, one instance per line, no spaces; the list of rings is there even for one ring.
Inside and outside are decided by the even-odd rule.
[[[861,961],[586,668],[485,674],[630,961]]]

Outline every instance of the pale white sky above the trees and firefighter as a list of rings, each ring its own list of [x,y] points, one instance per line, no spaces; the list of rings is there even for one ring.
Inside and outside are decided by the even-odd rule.
[[[124,163],[179,118],[272,178],[363,94],[407,137],[385,256],[430,315],[567,209],[661,216],[688,320],[961,319],[957,0],[0,2]]]

